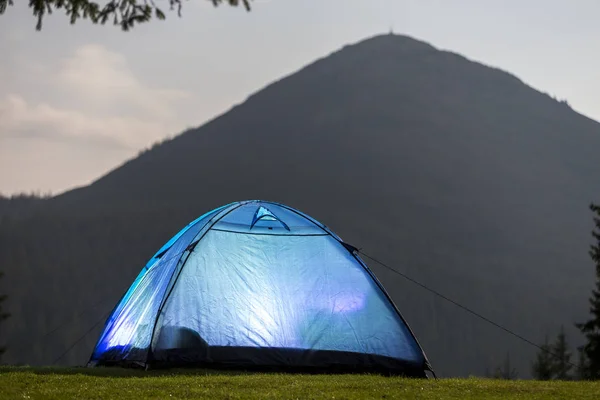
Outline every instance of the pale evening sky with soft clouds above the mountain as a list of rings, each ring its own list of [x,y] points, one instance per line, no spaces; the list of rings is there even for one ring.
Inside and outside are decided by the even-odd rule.
[[[346,44],[393,29],[509,71],[600,121],[598,0],[184,2],[130,32],[27,2],[0,16],[0,194],[86,185]],[[157,0],[157,4],[166,0]],[[201,155],[198,155],[201,157]]]

